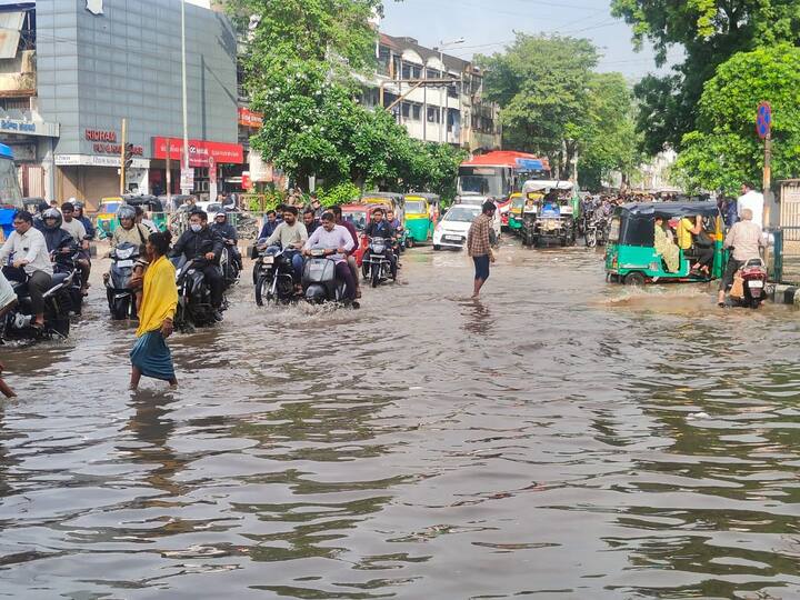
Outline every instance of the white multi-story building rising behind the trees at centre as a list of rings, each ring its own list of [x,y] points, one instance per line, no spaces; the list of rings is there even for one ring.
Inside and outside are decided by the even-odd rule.
[[[364,103],[391,110],[411,137],[472,153],[500,148],[499,107],[483,100],[483,74],[473,63],[386,33],[378,63]]]

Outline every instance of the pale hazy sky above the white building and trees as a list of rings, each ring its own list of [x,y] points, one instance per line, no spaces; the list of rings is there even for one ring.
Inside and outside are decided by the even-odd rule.
[[[652,50],[633,50],[630,26],[611,17],[609,6],[610,0],[384,0],[381,31],[429,48],[463,38],[446,49],[463,59],[502,51],[514,31],[558,32],[592,40],[602,54],[599,71],[620,71],[631,80],[659,72]],[[671,58],[678,61],[680,51]]]

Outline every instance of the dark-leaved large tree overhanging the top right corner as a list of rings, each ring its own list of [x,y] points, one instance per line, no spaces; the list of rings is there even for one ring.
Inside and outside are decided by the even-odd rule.
[[[659,67],[671,47],[686,52],[673,74],[649,76],[636,87],[638,129],[651,154],[664,144],[680,148],[683,134],[696,129],[697,104],[717,67],[740,51],[800,41],[797,0],[612,0],[611,12],[633,26],[638,48],[653,43]]]

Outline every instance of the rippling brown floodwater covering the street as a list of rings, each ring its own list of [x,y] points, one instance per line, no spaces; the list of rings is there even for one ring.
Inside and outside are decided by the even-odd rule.
[[[0,349],[0,597],[800,597],[800,313],[600,252],[503,248],[480,302],[428,249],[360,311],[242,286],[174,392],[126,391],[96,286]]]

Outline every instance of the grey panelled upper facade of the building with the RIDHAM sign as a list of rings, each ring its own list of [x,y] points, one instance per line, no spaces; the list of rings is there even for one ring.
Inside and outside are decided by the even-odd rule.
[[[61,123],[57,154],[96,154],[86,129],[120,132],[150,158],[182,136],[179,0],[37,1],[39,106]],[[227,18],[187,4],[189,136],[237,141],[236,38]]]

